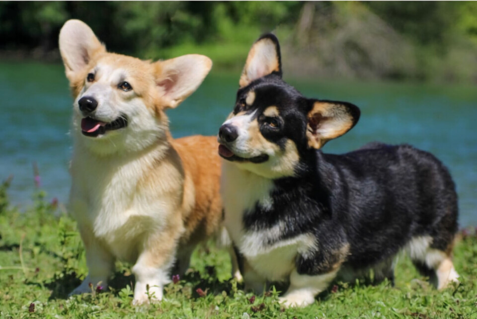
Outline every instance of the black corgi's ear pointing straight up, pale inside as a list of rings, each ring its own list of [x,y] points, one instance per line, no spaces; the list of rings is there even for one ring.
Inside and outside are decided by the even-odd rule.
[[[261,36],[248,52],[247,61],[240,76],[240,87],[247,86],[251,81],[274,73],[282,76],[280,44],[273,34]]]

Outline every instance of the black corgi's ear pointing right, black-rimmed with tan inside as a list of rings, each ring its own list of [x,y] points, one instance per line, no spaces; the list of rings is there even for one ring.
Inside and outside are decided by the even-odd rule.
[[[360,111],[347,102],[309,100],[307,138],[308,146],[321,148],[329,140],[348,132],[358,122]]]

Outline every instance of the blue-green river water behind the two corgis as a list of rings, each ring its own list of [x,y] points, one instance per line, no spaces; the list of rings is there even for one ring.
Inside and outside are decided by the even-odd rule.
[[[239,73],[209,75],[185,102],[167,112],[172,135],[216,135],[234,106],[238,79]],[[376,140],[429,151],[449,167],[457,184],[461,226],[477,225],[476,86],[289,82],[308,97],[349,101],[361,108],[356,127],[326,144],[324,152],[344,153]],[[47,198],[68,200],[71,108],[63,66],[0,64],[0,180],[13,175],[8,193],[14,205],[31,204],[33,162]]]

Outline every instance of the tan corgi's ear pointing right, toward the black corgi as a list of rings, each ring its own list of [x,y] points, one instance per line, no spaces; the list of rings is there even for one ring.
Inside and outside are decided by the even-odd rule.
[[[212,60],[199,54],[154,63],[156,84],[164,107],[174,108],[192,94],[212,68]]]

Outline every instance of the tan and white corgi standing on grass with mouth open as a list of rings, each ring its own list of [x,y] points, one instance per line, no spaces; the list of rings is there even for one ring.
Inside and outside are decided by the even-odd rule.
[[[161,300],[174,262],[183,273],[196,244],[221,228],[217,138],[173,140],[164,113],[197,89],[212,61],[109,53],[79,20],[65,23],[59,44],[75,97],[70,212],[89,270],[72,294],[107,286],[119,259],[134,264],[135,304]]]

